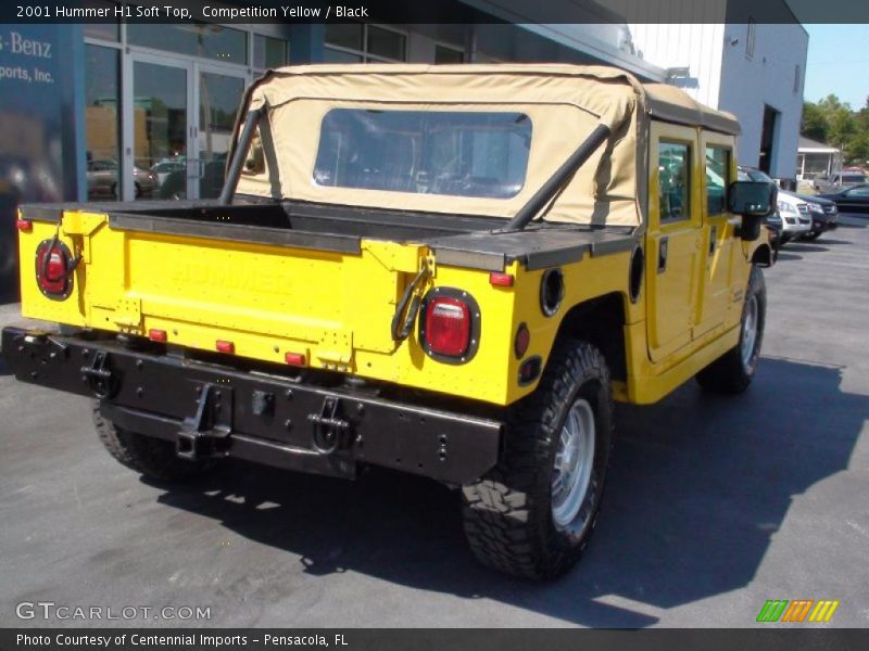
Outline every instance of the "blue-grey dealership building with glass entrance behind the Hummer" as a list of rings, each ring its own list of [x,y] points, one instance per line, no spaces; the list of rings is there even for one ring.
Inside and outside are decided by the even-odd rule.
[[[691,24],[629,23],[558,0],[576,23],[546,24],[519,0],[449,1],[467,22],[0,25],[0,224],[17,201],[216,196],[244,88],[314,62],[615,65],[735,113],[740,162],[795,178],[808,43],[798,23],[726,24],[723,4],[697,13],[692,0],[672,0]],[[0,233],[0,276],[11,239]]]

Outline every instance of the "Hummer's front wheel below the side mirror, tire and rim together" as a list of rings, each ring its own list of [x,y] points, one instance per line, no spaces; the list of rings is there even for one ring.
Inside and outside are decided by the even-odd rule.
[[[758,267],[752,267],[742,307],[739,344],[697,373],[697,382],[704,391],[740,394],[748,388],[760,358],[766,309],[764,275]]]

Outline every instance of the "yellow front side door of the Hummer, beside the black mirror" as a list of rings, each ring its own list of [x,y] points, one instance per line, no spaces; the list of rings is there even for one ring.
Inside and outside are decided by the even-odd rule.
[[[704,131],[702,201],[703,235],[701,267],[703,284],[692,339],[725,324],[731,304],[735,220],[727,212],[727,189],[734,180],[733,137]]]

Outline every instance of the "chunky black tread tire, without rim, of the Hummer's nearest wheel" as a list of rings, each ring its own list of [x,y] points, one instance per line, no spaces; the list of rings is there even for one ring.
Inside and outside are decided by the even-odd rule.
[[[578,398],[592,409],[595,445],[582,523],[565,531],[553,518],[553,467],[562,427]],[[465,535],[477,559],[522,578],[551,578],[569,570],[596,524],[612,429],[613,397],[603,355],[587,342],[557,342],[538,388],[509,410],[499,464],[462,489]]]

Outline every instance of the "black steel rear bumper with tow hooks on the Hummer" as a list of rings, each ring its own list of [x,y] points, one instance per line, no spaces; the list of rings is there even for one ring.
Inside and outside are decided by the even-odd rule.
[[[239,371],[109,340],[2,333],[15,378],[101,399],[122,427],[176,445],[180,457],[236,457],[354,477],[360,464],[464,484],[496,462],[502,423]]]

